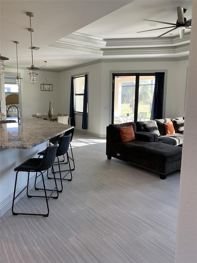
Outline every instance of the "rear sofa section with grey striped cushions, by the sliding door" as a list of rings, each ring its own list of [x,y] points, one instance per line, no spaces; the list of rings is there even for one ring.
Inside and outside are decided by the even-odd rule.
[[[175,133],[166,134],[164,122],[172,121]],[[136,121],[136,130],[146,132],[154,136],[154,142],[162,142],[170,145],[183,144],[184,117],[157,119],[154,121]]]

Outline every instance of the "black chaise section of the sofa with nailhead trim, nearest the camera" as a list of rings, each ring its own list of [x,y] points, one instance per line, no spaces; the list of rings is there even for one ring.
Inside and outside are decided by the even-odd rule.
[[[135,141],[122,142],[120,127],[132,125]],[[161,179],[181,167],[182,147],[155,142],[155,134],[137,132],[134,122],[110,124],[107,126],[106,154],[112,157],[158,172]]]

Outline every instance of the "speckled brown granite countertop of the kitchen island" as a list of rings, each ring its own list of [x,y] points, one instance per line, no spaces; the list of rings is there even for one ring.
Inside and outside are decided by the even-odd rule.
[[[35,117],[7,119],[17,122],[0,124],[0,148],[31,149],[73,127]]]

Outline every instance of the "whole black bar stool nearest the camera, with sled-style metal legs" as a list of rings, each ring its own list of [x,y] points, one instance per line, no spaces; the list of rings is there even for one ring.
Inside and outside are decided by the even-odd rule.
[[[53,170],[53,163],[55,160],[56,156],[56,151],[57,151],[57,146],[58,142],[55,142],[54,146],[49,146],[46,148],[45,153],[43,155],[43,158],[30,158],[14,168],[14,171],[17,171],[16,173],[16,180],[15,180],[15,186],[14,186],[14,195],[13,195],[13,202],[12,202],[12,214],[13,215],[33,215],[33,216],[48,216],[49,215],[49,205],[48,205],[48,200],[50,199],[51,195],[54,193],[54,191],[57,191],[57,196],[53,197],[55,199],[58,198],[58,187],[57,183],[55,180],[55,174]],[[44,183],[44,176],[42,171],[48,172],[48,169],[52,166],[52,173],[54,175],[54,180],[55,180],[55,187],[54,189],[46,189],[45,188],[45,183]],[[17,177],[18,177],[18,172],[28,172],[28,178],[27,178],[27,185],[20,191],[18,195],[15,196],[16,193],[16,184],[17,184]],[[43,188],[39,188],[41,190],[44,190],[45,195],[44,196],[38,196],[38,195],[29,195],[28,194],[28,187],[29,187],[29,177],[30,177],[30,172],[36,172],[35,178],[37,178],[38,172],[40,172],[40,175],[42,175],[42,182],[43,182]],[[39,175],[38,175],[39,176]],[[14,212],[14,200],[27,188],[27,197],[44,197],[46,199],[46,206],[47,206],[47,213],[46,214],[30,214],[30,213],[18,213]],[[47,196],[46,191],[52,191],[49,196]]]

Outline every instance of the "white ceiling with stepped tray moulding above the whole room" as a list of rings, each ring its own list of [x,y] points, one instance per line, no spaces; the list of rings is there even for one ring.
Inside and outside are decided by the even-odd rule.
[[[16,66],[18,44],[19,68],[31,65],[30,19],[34,65],[62,70],[98,59],[181,57],[188,55],[190,30],[183,41],[178,30],[172,35],[152,40],[167,30],[137,31],[165,27],[142,19],[175,23],[177,6],[187,9],[191,18],[192,1],[169,0],[63,0],[63,1],[0,1],[0,51],[10,60],[8,67]],[[166,25],[168,26],[168,25]]]

